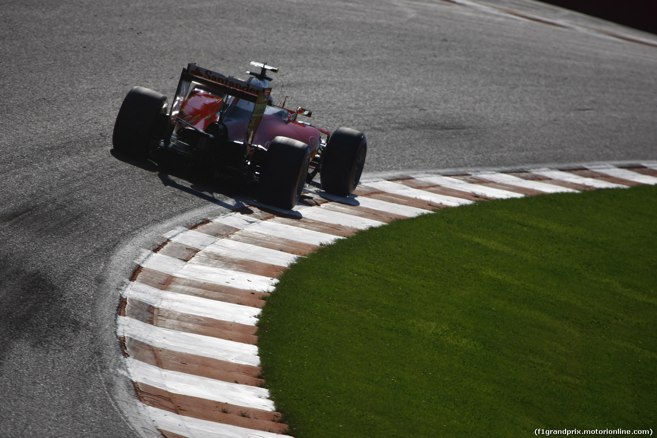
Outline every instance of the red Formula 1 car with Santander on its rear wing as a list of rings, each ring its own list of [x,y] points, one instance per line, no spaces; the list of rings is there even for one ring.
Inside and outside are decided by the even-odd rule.
[[[365,164],[365,134],[315,128],[298,120],[309,110],[273,105],[267,74],[278,69],[251,64],[260,71],[248,72],[248,80],[189,64],[171,108],[165,95],[134,87],[116,116],[114,150],[256,182],[260,201],[281,208],[294,207],[318,172],[325,191],[350,195]]]

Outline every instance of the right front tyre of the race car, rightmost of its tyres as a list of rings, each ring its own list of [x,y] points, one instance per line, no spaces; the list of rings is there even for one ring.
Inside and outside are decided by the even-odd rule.
[[[365,134],[350,128],[338,128],[324,149],[320,182],[322,189],[338,196],[353,193],[363,174],[367,156]]]

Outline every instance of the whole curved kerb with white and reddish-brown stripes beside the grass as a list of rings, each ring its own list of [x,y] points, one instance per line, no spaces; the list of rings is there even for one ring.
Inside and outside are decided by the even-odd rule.
[[[258,316],[277,276],[358,230],[487,199],[657,185],[657,162],[369,180],[338,197],[308,187],[290,210],[252,203],[175,228],[122,290],[117,335],[152,434],[286,437],[260,377]]]

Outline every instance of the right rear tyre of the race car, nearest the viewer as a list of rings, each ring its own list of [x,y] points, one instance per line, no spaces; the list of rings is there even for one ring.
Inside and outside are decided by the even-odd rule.
[[[260,170],[260,201],[290,210],[299,201],[310,164],[310,147],[286,137],[275,137]]]

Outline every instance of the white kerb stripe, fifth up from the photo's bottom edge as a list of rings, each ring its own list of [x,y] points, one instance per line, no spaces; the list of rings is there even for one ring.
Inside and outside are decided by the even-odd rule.
[[[236,287],[247,291],[271,292],[278,282],[275,278],[204,266],[195,263],[194,258],[189,262],[183,262],[183,260],[157,253],[152,253],[150,257],[141,263],[141,266],[170,276],[187,278],[188,280],[208,281],[208,283]]]

